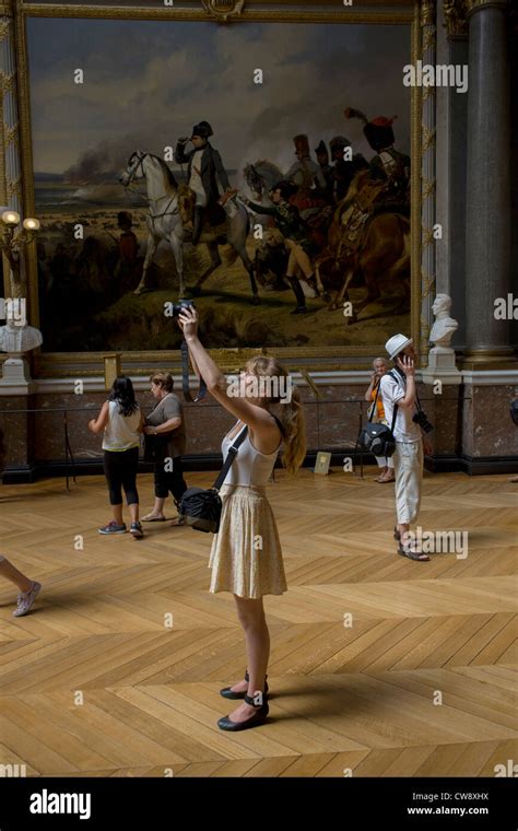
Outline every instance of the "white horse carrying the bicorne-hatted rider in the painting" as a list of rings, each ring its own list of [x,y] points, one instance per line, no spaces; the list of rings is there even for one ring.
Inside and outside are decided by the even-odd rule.
[[[128,166],[119,182],[128,187],[132,182],[145,179],[148,187],[149,213],[148,224],[148,250],[144,259],[142,279],[136,289],[136,294],[141,294],[148,289],[148,270],[153,261],[156,248],[162,239],[167,239],[175,256],[176,270],[179,280],[179,297],[185,295],[184,282],[184,221],[187,213],[184,210],[183,198],[179,196],[178,183],[176,182],[168,165],[158,156],[152,153],[144,153],[136,150],[131,154]],[[187,192],[188,188],[185,188]],[[188,201],[184,197],[184,201]],[[249,219],[246,208],[234,199],[228,199],[223,204],[227,214],[227,230],[219,237],[211,237],[202,241],[209,248],[211,264],[205,271],[198,278],[197,283],[191,289],[192,294],[200,294],[201,285],[207,278],[221,266],[221,257],[217,250],[219,243],[228,243],[234,251],[242,258],[243,264],[250,278],[252,302],[259,303],[254,265],[248,257],[246,241],[249,231]]]

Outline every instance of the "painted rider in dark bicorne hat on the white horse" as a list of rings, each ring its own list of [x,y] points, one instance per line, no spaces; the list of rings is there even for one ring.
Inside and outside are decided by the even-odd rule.
[[[189,139],[183,138],[178,139],[175,150],[175,162],[187,164],[187,184],[196,194],[193,245],[197,245],[200,239],[205,213],[211,225],[219,225],[226,219],[225,211],[219,204],[217,178],[224,190],[229,190],[231,184],[220,153],[209,142],[209,138],[213,134],[209,121],[200,121],[192,128],[190,137],[195,149],[186,153]]]

